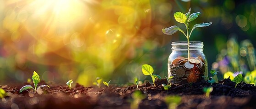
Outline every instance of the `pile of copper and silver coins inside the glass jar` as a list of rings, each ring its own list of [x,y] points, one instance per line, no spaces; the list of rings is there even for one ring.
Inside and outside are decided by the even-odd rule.
[[[205,61],[201,57],[175,58],[170,65],[170,82],[174,84],[195,83],[204,75],[206,70]]]

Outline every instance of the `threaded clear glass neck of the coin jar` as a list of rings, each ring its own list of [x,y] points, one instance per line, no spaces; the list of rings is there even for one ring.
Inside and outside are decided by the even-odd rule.
[[[173,51],[188,51],[188,42],[172,42],[172,49]],[[203,42],[190,41],[189,49],[190,51],[203,51]]]

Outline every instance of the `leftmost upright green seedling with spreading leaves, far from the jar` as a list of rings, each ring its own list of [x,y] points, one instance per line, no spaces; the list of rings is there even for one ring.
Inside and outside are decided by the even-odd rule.
[[[35,71],[33,72],[32,80],[33,80],[33,83],[34,83],[34,87],[35,87],[35,88],[33,88],[31,85],[25,85],[25,86],[23,86],[23,87],[20,89],[20,93],[21,93],[23,90],[25,90],[25,89],[33,89],[33,90],[34,90],[34,93],[36,93],[39,88],[42,88],[42,87],[45,87],[45,86],[47,86],[47,87],[50,88],[49,85],[40,85],[40,86],[38,86],[38,83],[40,82],[40,77],[39,77],[38,73],[35,72]],[[37,86],[38,86],[38,88],[37,88]]]

